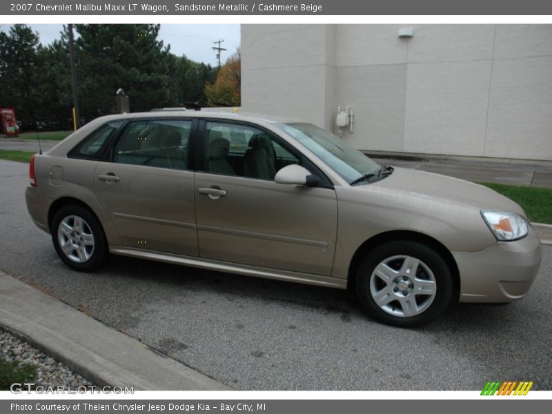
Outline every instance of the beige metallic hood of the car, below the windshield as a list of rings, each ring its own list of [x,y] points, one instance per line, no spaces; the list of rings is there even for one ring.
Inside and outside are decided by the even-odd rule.
[[[508,211],[526,218],[526,214],[520,206],[491,188],[433,172],[394,168],[393,174],[385,179],[355,188],[368,189],[368,187],[377,186],[386,190],[397,190],[413,193],[413,195],[453,201],[479,210]]]

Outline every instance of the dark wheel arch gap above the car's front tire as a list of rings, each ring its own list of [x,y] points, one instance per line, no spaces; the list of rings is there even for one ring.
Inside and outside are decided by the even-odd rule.
[[[417,233],[411,230],[391,230],[385,233],[380,233],[361,244],[359,248],[357,248],[357,250],[355,251],[353,259],[351,259],[351,264],[349,264],[347,289],[355,289],[357,268],[366,254],[368,254],[373,248],[375,248],[375,246],[398,240],[407,240],[409,242],[418,242],[425,244],[426,246],[433,248],[433,250],[435,250],[444,258],[447,266],[449,266],[449,269],[451,270],[451,274],[453,275],[453,290],[455,300],[457,300],[460,296],[460,271],[458,270],[458,266],[451,251],[437,239],[434,239],[433,237],[428,235],[424,235],[423,233]]]

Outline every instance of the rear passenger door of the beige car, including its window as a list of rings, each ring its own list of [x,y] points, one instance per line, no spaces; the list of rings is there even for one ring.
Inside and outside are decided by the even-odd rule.
[[[197,256],[193,119],[133,119],[99,161],[94,190],[124,246]]]

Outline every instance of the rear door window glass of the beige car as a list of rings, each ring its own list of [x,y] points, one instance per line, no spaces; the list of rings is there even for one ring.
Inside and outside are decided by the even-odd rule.
[[[113,150],[113,161],[186,170],[192,121],[159,119],[133,121]]]

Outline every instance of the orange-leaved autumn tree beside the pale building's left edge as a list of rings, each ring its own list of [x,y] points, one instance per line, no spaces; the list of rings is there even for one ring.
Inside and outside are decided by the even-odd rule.
[[[220,68],[215,83],[206,84],[205,95],[208,105],[239,106],[241,83],[241,57],[238,50]]]

